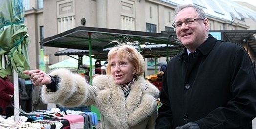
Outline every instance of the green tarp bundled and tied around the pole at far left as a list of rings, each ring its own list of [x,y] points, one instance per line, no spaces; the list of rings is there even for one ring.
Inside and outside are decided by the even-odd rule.
[[[18,73],[20,78],[27,78],[24,70],[29,70],[27,46],[30,43],[27,28],[24,25],[22,0],[0,0],[0,55],[7,55],[8,61],[2,67],[0,76]]]

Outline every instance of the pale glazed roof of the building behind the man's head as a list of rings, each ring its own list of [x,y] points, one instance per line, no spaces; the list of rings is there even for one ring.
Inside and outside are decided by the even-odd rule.
[[[231,0],[159,0],[171,5],[194,4],[202,7],[210,17],[232,21],[233,19],[244,20],[252,18],[256,21],[256,11],[242,6]],[[214,6],[212,6],[214,5]]]

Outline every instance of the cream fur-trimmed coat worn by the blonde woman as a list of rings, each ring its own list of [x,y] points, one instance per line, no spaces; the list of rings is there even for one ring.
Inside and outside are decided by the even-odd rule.
[[[143,77],[137,77],[125,98],[111,75],[95,76],[93,86],[79,74],[65,69],[54,70],[50,75],[60,77],[60,82],[56,92],[47,92],[43,86],[45,103],[65,107],[95,105],[101,112],[102,129],[154,129],[159,90]]]

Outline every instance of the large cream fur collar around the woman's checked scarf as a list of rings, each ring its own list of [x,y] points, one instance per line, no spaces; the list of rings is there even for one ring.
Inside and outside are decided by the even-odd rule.
[[[96,106],[117,129],[128,129],[156,111],[155,98],[159,91],[142,77],[138,77],[131,86],[131,92],[126,99],[111,75],[96,76],[93,86],[101,89],[96,98]]]

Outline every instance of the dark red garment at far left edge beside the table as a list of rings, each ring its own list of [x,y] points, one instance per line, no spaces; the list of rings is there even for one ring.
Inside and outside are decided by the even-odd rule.
[[[11,105],[11,96],[13,95],[14,87],[13,84],[8,80],[7,77],[0,77],[0,107],[3,109],[3,114],[5,114],[5,107]]]

